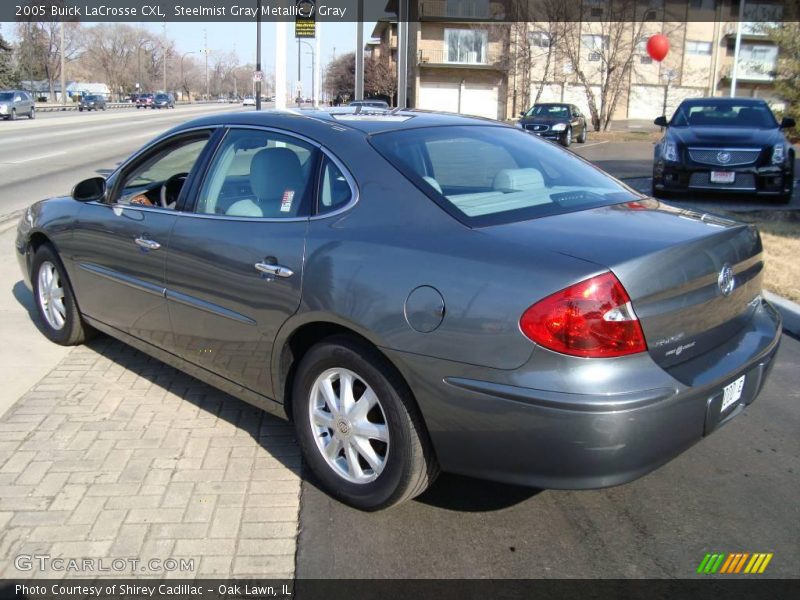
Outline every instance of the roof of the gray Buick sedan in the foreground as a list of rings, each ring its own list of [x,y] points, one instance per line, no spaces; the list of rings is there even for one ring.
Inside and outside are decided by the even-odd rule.
[[[251,125],[261,127],[277,127],[299,134],[318,130],[319,125],[339,127],[360,131],[367,135],[385,131],[417,129],[420,127],[442,127],[458,125],[488,125],[510,127],[505,123],[481,117],[467,117],[451,113],[436,113],[415,109],[406,110],[262,110],[257,112],[235,112],[209,115],[194,119],[181,126],[190,129],[219,125]]]

